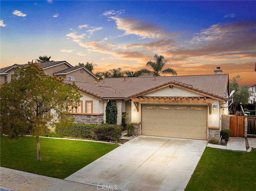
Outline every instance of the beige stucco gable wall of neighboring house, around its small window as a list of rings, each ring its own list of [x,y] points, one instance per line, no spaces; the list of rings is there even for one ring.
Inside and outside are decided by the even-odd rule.
[[[74,77],[74,81],[89,82],[92,84],[95,83],[95,78],[86,70],[84,70],[84,73],[80,73],[80,69],[79,69],[79,70],[70,72],[66,75],[62,75],[62,78],[68,80],[68,76]]]

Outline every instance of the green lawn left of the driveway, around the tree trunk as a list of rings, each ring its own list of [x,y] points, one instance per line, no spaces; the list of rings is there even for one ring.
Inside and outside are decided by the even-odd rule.
[[[117,148],[99,142],[39,138],[42,161],[37,160],[36,138],[0,137],[0,165],[11,169],[64,179]]]

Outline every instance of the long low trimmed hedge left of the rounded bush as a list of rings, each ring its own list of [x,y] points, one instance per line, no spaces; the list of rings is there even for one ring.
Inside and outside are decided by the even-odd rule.
[[[72,124],[71,126],[56,126],[56,133],[68,137],[92,138],[91,130],[97,125]]]

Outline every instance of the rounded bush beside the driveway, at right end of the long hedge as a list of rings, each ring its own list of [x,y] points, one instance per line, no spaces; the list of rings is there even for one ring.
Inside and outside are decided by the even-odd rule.
[[[122,131],[123,127],[120,125],[102,124],[92,129],[92,138],[104,141],[119,140]]]

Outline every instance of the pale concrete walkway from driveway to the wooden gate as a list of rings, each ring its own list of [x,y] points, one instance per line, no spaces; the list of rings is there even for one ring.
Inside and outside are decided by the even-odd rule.
[[[208,143],[207,147],[246,152],[245,139],[241,137],[230,137],[227,146]]]

